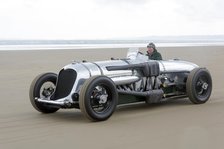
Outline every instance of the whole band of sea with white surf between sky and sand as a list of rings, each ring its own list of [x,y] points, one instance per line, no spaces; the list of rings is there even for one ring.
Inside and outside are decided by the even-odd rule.
[[[142,48],[149,42],[157,47],[224,46],[224,35],[150,36],[132,39],[103,40],[0,40],[0,51],[66,50],[100,48]]]

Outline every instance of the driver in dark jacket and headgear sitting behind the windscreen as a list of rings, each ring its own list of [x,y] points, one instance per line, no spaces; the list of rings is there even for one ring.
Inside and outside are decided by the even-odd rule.
[[[146,56],[151,60],[162,60],[161,54],[156,50],[156,46],[152,42],[147,45]]]

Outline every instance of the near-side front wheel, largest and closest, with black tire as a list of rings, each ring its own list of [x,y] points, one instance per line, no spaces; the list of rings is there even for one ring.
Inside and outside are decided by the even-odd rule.
[[[81,112],[91,121],[108,119],[113,114],[117,101],[116,86],[106,76],[89,78],[80,90],[79,106]]]

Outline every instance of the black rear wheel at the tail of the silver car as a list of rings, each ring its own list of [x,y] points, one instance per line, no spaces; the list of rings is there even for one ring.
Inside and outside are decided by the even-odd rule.
[[[212,78],[206,68],[193,69],[186,83],[187,95],[192,103],[202,104],[208,101],[212,92]]]

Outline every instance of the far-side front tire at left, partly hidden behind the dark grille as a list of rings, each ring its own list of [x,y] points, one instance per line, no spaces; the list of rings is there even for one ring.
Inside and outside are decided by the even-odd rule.
[[[30,86],[30,102],[32,106],[39,112],[42,113],[54,113],[59,108],[49,107],[46,103],[40,103],[35,98],[47,98],[54,93],[57,82],[57,74],[55,73],[44,73],[38,75]],[[48,84],[47,84],[48,83]],[[47,85],[50,85],[48,88]],[[44,88],[44,90],[42,90]]]

